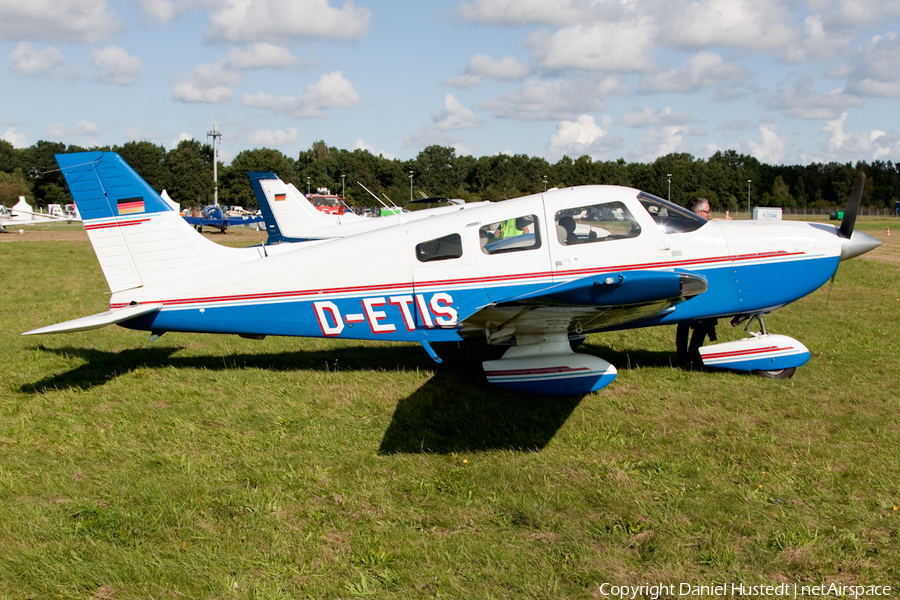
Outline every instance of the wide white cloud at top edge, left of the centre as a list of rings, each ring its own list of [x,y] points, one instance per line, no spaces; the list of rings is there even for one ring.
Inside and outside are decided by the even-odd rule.
[[[210,15],[206,39],[215,42],[345,41],[366,35],[372,11],[329,0],[227,0]]]

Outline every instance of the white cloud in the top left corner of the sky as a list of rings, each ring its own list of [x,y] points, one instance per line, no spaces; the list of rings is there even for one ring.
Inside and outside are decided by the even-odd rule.
[[[105,0],[2,0],[0,39],[93,44],[123,25]]]

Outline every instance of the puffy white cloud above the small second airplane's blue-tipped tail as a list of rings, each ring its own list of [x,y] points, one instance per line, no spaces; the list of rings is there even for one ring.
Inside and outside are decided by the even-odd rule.
[[[310,84],[300,98],[272,96],[266,92],[246,94],[244,106],[264,108],[278,115],[300,118],[323,118],[330,108],[353,108],[362,102],[353,84],[340,71],[327,73]]]

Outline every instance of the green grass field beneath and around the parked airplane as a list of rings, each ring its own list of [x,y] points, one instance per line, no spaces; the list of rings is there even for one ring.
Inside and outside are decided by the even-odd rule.
[[[767,319],[812,351],[793,379],[672,368],[660,327],[590,336],[619,377],[574,399],[489,387],[478,345],[439,366],[405,344],[23,338],[107,288],[83,232],[2,234],[0,598],[900,597],[890,225],[860,221],[886,243],[827,304],[826,286]]]

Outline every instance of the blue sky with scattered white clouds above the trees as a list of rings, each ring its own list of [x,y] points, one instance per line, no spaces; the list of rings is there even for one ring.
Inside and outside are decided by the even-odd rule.
[[[900,0],[0,0],[0,138],[900,161]]]

